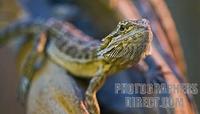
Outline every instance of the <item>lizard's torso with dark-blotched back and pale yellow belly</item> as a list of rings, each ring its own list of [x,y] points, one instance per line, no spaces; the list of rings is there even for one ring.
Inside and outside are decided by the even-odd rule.
[[[96,51],[100,46],[98,40],[88,40],[69,23],[57,23],[53,26],[57,38],[49,38],[47,54],[74,76],[89,78],[96,75],[104,61],[97,58]],[[72,29],[73,28],[73,29]],[[71,31],[74,30],[74,31]],[[85,37],[82,37],[85,36]]]

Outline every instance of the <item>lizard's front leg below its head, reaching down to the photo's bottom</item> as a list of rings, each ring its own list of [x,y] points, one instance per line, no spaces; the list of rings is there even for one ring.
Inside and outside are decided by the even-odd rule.
[[[104,73],[103,68],[100,67],[97,75],[90,80],[85,93],[85,103],[90,114],[100,114],[96,93],[103,86],[106,77],[106,73]]]

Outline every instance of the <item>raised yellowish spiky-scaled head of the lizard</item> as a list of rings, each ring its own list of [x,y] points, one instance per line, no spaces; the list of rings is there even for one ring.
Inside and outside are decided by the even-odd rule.
[[[138,62],[148,55],[152,32],[146,19],[124,20],[102,39],[97,55],[108,62]]]

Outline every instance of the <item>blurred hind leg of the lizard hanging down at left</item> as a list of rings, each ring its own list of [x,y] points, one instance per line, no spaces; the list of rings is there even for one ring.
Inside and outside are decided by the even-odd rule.
[[[39,44],[41,44],[41,41],[39,41]],[[17,90],[17,98],[22,104],[25,104],[26,102],[28,90],[30,88],[30,83],[32,81],[34,73],[41,68],[44,62],[43,52],[38,51],[39,46],[41,45],[38,45],[38,42],[34,41],[34,47],[32,48],[31,52],[27,55],[24,65],[22,66],[21,77]]]

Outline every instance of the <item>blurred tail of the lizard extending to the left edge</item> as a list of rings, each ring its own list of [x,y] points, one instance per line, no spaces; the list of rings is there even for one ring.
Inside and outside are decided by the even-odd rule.
[[[32,20],[19,21],[10,24],[3,30],[0,30],[0,45],[6,44],[19,36],[35,34],[42,30],[44,30],[44,26],[42,26],[41,23]]]

